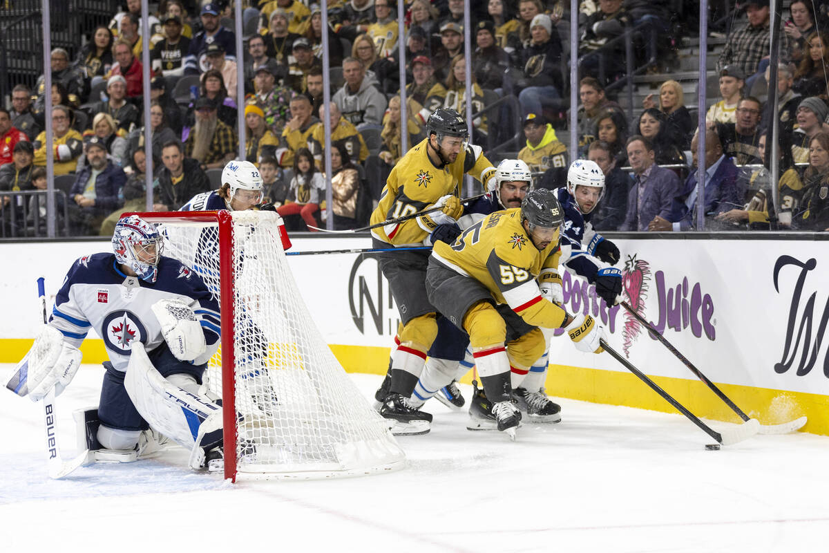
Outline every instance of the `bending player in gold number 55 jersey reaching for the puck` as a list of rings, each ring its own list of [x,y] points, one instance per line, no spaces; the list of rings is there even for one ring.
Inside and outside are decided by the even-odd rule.
[[[468,333],[497,428],[507,430],[512,439],[521,412],[511,401],[511,367],[526,373],[544,353],[545,338],[537,327],[563,327],[580,351],[603,351],[599,340],[604,330],[593,318],[569,316],[545,299],[539,288],[560,283],[557,269],[564,220],[555,194],[534,190],[521,208],[484,217],[451,245],[435,244],[429,260],[429,302]],[[514,325],[497,312],[495,305],[501,303],[536,328],[507,342]]]

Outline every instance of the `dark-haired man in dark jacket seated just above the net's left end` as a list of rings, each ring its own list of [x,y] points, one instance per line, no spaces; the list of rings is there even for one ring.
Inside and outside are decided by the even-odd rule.
[[[201,170],[201,164],[193,158],[186,158],[182,144],[168,142],[162,148],[164,167],[156,174],[153,204],[155,211],[177,211],[190,198],[201,192],[212,190],[210,179]]]

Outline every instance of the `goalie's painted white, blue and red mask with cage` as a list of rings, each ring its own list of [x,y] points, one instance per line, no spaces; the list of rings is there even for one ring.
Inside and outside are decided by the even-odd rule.
[[[112,235],[115,260],[132,269],[138,278],[155,282],[158,261],[161,260],[164,242],[156,226],[131,215],[118,221]]]

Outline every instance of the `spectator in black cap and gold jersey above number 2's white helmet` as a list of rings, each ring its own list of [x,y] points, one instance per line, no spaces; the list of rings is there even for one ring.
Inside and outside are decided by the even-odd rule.
[[[567,178],[567,147],[555,136],[555,129],[542,114],[527,114],[524,118],[526,146],[521,148],[518,159],[527,164],[532,172],[543,172],[537,187],[564,186]]]

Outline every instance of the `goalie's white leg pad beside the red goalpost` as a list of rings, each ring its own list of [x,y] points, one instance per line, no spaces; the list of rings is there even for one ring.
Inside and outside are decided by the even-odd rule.
[[[221,428],[221,407],[165,380],[140,342],[133,343],[124,387],[150,426],[184,448],[196,445],[201,425],[212,415],[217,416],[211,427],[217,419]]]

